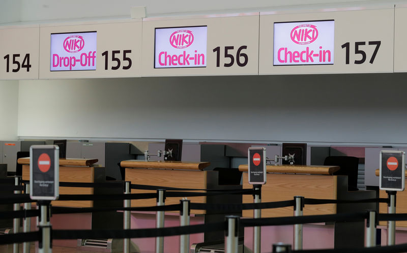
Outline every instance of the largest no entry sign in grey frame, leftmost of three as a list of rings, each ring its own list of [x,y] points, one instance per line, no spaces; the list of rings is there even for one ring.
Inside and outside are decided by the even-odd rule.
[[[33,145],[30,147],[30,198],[56,200],[59,197],[59,147]]]

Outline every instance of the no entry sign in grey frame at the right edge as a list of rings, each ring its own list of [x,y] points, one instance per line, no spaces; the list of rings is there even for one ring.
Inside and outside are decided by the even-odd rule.
[[[404,151],[380,151],[380,189],[404,191]]]

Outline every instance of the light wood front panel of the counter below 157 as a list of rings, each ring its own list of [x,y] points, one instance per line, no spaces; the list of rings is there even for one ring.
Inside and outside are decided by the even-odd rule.
[[[267,183],[261,187],[261,202],[294,200],[294,196],[313,199],[336,199],[336,176],[267,174]],[[252,188],[248,173],[243,173],[243,188]],[[243,203],[253,203],[251,195],[243,195]],[[293,216],[293,207],[261,210],[261,217]],[[336,204],[306,205],[304,215],[334,214]],[[253,217],[253,210],[244,210],[243,217]]]

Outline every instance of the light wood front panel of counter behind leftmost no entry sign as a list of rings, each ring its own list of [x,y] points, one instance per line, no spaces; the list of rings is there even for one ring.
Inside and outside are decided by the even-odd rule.
[[[22,166],[22,180],[30,180],[30,165]],[[65,167],[60,166],[60,182],[93,182],[93,167]],[[93,188],[60,187],[62,194],[93,194]],[[93,201],[52,201],[53,206],[93,207]]]

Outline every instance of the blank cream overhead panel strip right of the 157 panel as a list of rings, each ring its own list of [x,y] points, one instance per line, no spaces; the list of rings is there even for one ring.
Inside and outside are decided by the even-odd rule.
[[[407,23],[407,6],[397,6],[394,11],[394,72],[407,72],[407,33],[405,24]]]

